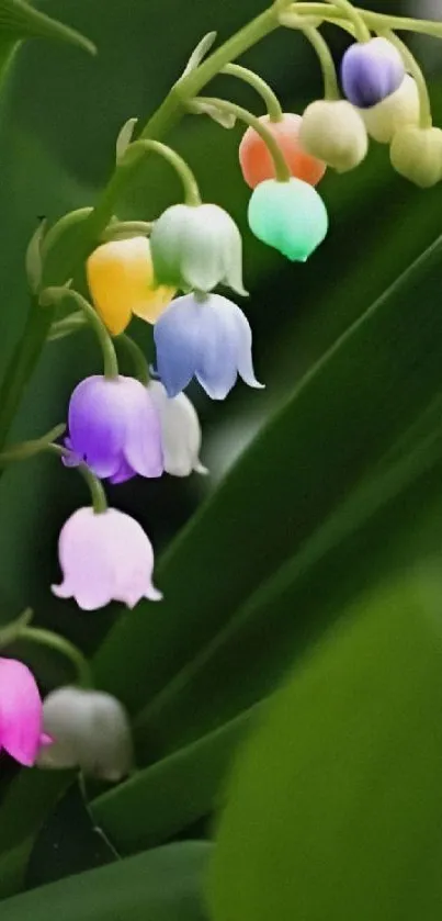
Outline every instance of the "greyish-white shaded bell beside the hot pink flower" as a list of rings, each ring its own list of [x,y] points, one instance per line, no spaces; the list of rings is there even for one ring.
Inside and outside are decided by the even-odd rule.
[[[80,767],[86,775],[110,782],[129,774],[134,762],[129,721],[111,694],[59,687],[44,700],[43,725],[53,742],[41,750],[38,767]]]

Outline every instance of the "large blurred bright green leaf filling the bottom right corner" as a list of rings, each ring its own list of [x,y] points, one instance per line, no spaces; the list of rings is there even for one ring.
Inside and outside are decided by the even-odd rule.
[[[440,917],[440,592],[364,598],[270,704],[229,784],[215,921]]]

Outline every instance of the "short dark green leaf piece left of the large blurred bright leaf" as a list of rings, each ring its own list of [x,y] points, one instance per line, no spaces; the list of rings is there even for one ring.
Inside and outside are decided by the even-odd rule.
[[[257,711],[245,711],[98,797],[92,815],[116,847],[125,854],[151,847],[209,815]]]

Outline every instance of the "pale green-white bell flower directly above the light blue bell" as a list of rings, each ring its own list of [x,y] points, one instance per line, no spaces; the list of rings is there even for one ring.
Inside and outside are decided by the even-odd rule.
[[[242,242],[235,221],[216,204],[175,204],[156,221],[150,247],[159,283],[207,292],[226,284],[246,294]]]

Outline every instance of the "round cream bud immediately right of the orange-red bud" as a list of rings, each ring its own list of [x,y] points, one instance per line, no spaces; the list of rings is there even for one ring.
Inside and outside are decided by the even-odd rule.
[[[369,138],[364,122],[351,102],[318,100],[307,105],[299,130],[299,139],[315,157],[347,172],[366,156]]]

